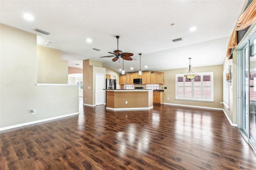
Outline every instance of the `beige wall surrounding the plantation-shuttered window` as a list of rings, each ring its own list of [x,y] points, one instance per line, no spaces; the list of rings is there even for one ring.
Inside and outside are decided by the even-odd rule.
[[[212,108],[223,108],[220,104],[222,101],[223,85],[222,85],[222,72],[223,65],[212,65],[206,67],[192,67],[194,73],[213,72],[214,75],[214,102],[200,102],[200,101],[184,101],[175,99],[175,75],[186,74],[188,68],[184,69],[170,69],[161,70],[158,72],[164,72],[164,84],[159,85],[159,89],[164,89],[164,103],[179,104],[179,105],[192,105],[200,107],[212,107]],[[169,100],[167,99],[169,98]]]

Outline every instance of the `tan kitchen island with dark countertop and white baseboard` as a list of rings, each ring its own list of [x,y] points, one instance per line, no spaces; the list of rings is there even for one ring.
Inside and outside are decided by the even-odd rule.
[[[106,89],[106,109],[142,110],[153,108],[151,89]]]

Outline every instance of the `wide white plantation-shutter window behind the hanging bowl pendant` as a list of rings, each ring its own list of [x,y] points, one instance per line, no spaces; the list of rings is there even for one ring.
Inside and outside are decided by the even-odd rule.
[[[197,74],[191,81],[184,74],[176,74],[175,99],[213,102],[213,72]]]

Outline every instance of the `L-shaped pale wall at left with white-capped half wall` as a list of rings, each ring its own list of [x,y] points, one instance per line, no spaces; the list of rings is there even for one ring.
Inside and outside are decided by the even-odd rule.
[[[36,34],[0,24],[0,37],[0,128],[78,113],[78,86],[36,85]]]

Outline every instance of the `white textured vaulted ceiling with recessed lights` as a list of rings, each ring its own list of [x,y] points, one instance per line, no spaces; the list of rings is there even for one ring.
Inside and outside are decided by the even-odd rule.
[[[62,50],[70,67],[93,59],[118,72],[122,59],[100,58],[117,49],[133,53],[126,72],[222,64],[245,0],[1,0],[0,22],[38,36],[38,45]],[[26,21],[24,13],[34,16]],[[171,27],[170,24],[175,24]],[[190,28],[197,29],[190,32]],[[35,32],[39,28],[51,34]],[[86,39],[92,42],[87,43]],[[180,42],[172,40],[182,38]],[[100,51],[92,50],[100,49]],[[120,62],[119,62],[120,61]],[[75,64],[80,65],[75,65]],[[147,65],[148,68],[144,68]],[[134,67],[134,70],[130,70]]]

